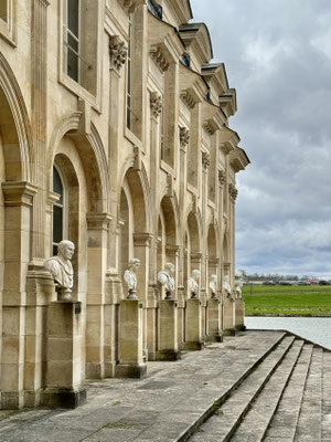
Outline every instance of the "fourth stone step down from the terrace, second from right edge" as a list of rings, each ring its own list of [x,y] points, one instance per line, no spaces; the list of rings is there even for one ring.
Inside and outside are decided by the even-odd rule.
[[[295,442],[321,442],[323,349],[314,347],[303,392]]]

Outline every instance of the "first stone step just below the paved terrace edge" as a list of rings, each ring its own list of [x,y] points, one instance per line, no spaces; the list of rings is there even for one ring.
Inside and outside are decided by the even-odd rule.
[[[248,411],[250,403],[259,394],[279,364],[281,364],[293,341],[293,336],[285,337],[259,364],[255,371],[249,375],[245,382],[233,391],[228,400],[216,410],[215,415],[205,422],[190,440],[195,442],[228,441]]]

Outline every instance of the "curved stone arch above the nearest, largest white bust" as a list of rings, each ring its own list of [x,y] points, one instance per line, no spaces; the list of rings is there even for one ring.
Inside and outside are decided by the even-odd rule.
[[[81,112],[65,115],[55,126],[49,146],[49,189],[52,187],[52,167],[56,149],[64,136],[71,138],[81,157],[87,182],[88,211],[108,213],[109,176],[105,149],[102,138],[90,124],[90,131],[83,134],[79,130]]]

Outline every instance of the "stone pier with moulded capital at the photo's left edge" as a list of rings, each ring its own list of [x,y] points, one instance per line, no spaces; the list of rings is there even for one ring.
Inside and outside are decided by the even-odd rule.
[[[22,181],[2,183],[4,197],[4,281],[2,296],[2,409],[24,406],[24,339],[30,229],[36,187]]]

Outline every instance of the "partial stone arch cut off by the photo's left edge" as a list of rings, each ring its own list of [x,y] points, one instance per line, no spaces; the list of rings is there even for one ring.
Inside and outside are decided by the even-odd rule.
[[[31,125],[15,76],[0,53],[0,133],[7,181],[33,181]]]

